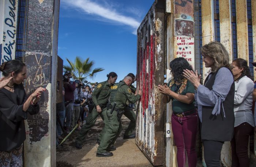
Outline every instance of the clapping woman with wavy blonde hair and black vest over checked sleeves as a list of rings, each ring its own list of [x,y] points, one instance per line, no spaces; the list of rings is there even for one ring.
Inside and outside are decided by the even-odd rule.
[[[234,131],[234,77],[230,71],[229,53],[216,41],[201,48],[205,67],[211,68],[204,85],[200,76],[184,70],[184,76],[195,87],[195,100],[201,121],[201,138],[206,166],[221,167],[222,145],[231,141]]]

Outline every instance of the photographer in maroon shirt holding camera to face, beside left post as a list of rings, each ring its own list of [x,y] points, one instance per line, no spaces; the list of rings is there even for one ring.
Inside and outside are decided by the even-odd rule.
[[[73,111],[73,103],[74,103],[74,91],[76,89],[76,83],[70,81],[72,78],[70,71],[65,71],[63,75],[63,84],[65,89],[65,109],[66,109],[66,124],[65,127],[67,128],[67,133],[70,132],[70,123],[71,123],[71,115]]]

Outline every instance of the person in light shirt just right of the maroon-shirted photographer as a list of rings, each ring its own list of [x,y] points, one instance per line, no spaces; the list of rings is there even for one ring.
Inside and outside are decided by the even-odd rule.
[[[75,86],[76,89],[74,91],[74,106],[73,106],[73,112],[72,112],[72,116],[71,116],[71,127],[75,127],[78,119],[79,119],[79,115],[80,115],[80,103],[81,103],[81,99],[83,98],[83,92],[82,92],[82,83],[80,80],[75,80]],[[80,126],[78,127],[79,129],[81,128]]]

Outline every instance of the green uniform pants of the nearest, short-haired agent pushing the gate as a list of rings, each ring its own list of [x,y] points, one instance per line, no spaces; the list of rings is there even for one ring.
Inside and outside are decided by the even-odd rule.
[[[107,118],[105,119],[104,133],[102,133],[101,144],[99,144],[97,153],[102,154],[106,152],[107,148],[111,146],[111,142],[116,137],[118,130],[120,129],[121,121],[117,119],[117,111],[113,111],[110,114],[111,109],[106,110]],[[120,130],[119,130],[120,131]]]

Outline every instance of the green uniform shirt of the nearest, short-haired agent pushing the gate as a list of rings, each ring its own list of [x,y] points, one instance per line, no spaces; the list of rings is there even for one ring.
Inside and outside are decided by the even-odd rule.
[[[135,95],[132,93],[131,88],[125,84],[122,80],[119,83],[115,83],[111,87],[112,93],[110,98],[110,103],[113,105],[116,102],[116,108],[121,110],[126,106],[126,102],[135,103],[140,99],[140,95]],[[116,91],[116,92],[114,92]]]

